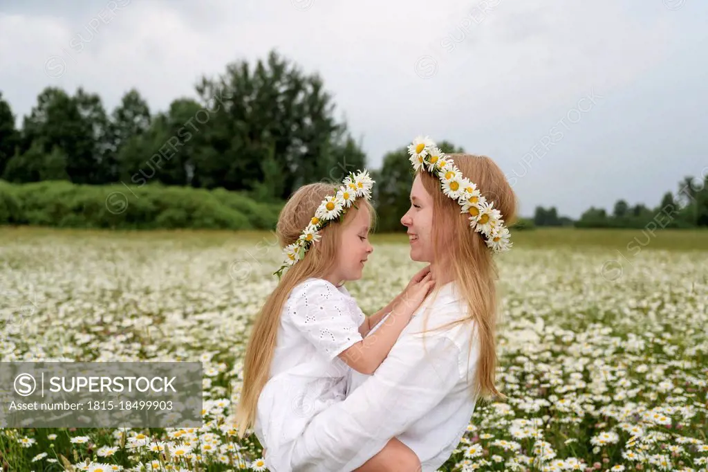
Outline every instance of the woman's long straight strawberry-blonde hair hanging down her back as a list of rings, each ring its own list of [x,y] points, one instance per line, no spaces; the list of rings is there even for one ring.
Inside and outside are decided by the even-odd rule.
[[[486,156],[450,154],[464,177],[494,208],[501,211],[504,224],[516,218],[516,196],[501,169]],[[460,296],[467,303],[467,317],[455,322],[473,321],[479,342],[479,361],[475,387],[483,397],[501,395],[496,379],[497,269],[484,235],[469,227],[469,215],[460,213],[457,201],[442,193],[437,176],[418,171],[426,191],[433,197],[433,257],[448,264]]]

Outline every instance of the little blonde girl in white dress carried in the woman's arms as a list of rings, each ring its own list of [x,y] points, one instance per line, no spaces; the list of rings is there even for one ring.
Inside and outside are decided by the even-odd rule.
[[[364,374],[377,369],[433,288],[423,269],[370,318],[344,288],[344,282],[361,278],[373,251],[368,240],[372,185],[367,172],[348,176],[336,193],[327,184],[309,184],[280,213],[277,230],[286,264],[276,274],[287,271],[253,326],[236,411],[239,434],[253,427],[271,471],[292,470],[292,447],[305,427],[344,400],[350,369]],[[365,340],[384,315],[386,322]],[[377,470],[392,471],[420,466],[397,439],[384,447],[376,464]],[[360,471],[366,470],[364,464]]]

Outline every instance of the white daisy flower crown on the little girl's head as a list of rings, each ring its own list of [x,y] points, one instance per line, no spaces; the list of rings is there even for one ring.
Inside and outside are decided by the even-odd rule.
[[[358,208],[354,203],[358,198],[364,197],[370,200],[373,186],[374,181],[366,169],[357,171],[356,174],[350,172],[342,181],[342,185],[339,188],[334,188],[335,194],[327,196],[319,204],[314,217],[297,238],[297,241],[283,249],[285,264],[282,264],[280,269],[273,272],[273,275],[277,275],[280,278],[285,269],[297,264],[299,260],[305,257],[305,253],[309,248],[319,241],[321,237],[319,231],[334,220],[342,221],[350,207]]]

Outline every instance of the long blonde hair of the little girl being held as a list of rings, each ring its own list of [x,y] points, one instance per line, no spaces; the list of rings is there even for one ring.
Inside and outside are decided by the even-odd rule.
[[[335,194],[331,184],[317,182],[300,187],[280,211],[276,232],[280,247],[286,247],[297,241],[302,230],[307,227],[320,203],[326,196]],[[375,221],[374,208],[366,198],[358,198],[355,205],[369,210],[372,224]],[[290,266],[282,275],[278,286],[265,300],[263,308],[256,316],[251,330],[249,344],[246,347],[244,361],[244,384],[241,400],[236,408],[236,427],[239,437],[244,437],[246,429],[256,420],[258,397],[270,378],[270,364],[275,352],[275,341],[280,327],[280,313],[283,305],[295,286],[310,277],[323,278],[331,273],[337,263],[337,251],[343,227],[355,217],[357,210],[347,210],[343,222],[334,220],[319,231],[321,239],[310,245],[302,260]]]

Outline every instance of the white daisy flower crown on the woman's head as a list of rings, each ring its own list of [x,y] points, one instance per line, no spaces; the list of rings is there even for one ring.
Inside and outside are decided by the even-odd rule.
[[[486,245],[493,252],[510,249],[510,233],[503,224],[501,212],[494,208],[493,202],[481,196],[476,184],[462,176],[452,157],[442,152],[428,136],[416,137],[408,153],[416,172],[423,169],[440,179],[442,193],[457,201],[462,208],[460,213],[469,215],[469,226],[484,235]]]

